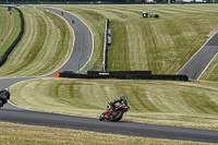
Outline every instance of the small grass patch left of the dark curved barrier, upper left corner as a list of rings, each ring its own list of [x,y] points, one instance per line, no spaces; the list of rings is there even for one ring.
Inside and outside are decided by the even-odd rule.
[[[1,20],[0,37],[1,38],[5,37],[4,40],[0,43],[0,59],[1,59],[4,52],[9,49],[11,44],[16,39],[16,37],[19,36],[21,32],[21,17],[20,17],[19,11],[13,9],[12,11],[13,20],[12,20],[5,7],[0,8],[0,13],[1,13],[0,14],[0,20]],[[11,23],[12,23],[12,28],[10,31]]]

